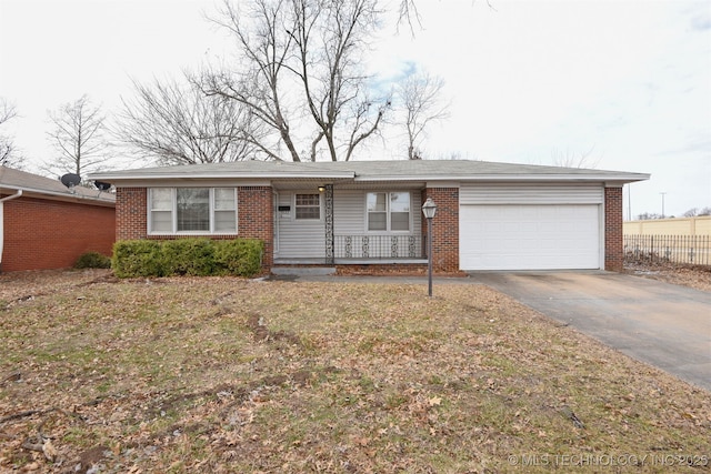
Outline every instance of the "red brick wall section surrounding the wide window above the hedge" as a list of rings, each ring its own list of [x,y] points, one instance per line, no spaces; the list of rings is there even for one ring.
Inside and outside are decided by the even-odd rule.
[[[146,188],[119,188],[116,200],[116,225],[119,240],[176,239],[171,235],[148,235],[148,190]],[[264,242],[263,266],[273,261],[273,208],[270,186],[242,186],[237,189],[238,236],[260,239]],[[216,235],[214,239],[231,239]]]

